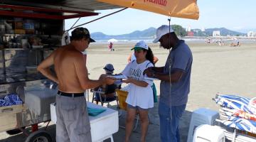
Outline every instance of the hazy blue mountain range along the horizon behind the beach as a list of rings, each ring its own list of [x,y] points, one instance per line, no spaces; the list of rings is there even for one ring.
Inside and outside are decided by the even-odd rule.
[[[192,29],[194,36],[211,36],[213,31],[220,31],[220,35],[246,35],[245,33],[240,33],[238,31],[231,31],[227,28],[207,28],[205,31],[201,29]],[[133,31],[132,33],[122,34],[122,35],[106,35],[101,32],[91,33],[91,37],[95,40],[109,40],[115,38],[117,40],[140,40],[140,39],[152,39],[156,35],[156,28],[148,28],[144,31]]]

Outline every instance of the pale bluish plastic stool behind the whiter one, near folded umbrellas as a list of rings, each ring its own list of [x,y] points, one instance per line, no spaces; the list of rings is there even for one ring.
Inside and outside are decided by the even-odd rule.
[[[215,125],[215,119],[218,119],[219,117],[220,115],[218,114],[218,111],[213,111],[206,108],[196,109],[196,111],[193,111],[189,125],[187,142],[193,141],[193,133],[196,127],[200,126],[201,124]]]

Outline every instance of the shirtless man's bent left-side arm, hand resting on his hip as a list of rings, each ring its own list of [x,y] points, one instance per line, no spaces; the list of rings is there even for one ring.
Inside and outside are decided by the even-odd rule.
[[[58,78],[55,75],[53,75],[53,72],[50,71],[50,66],[54,63],[54,55],[55,52],[53,52],[52,54],[50,54],[50,56],[48,56],[48,58],[43,60],[43,62],[41,62],[41,64],[38,65],[37,70],[41,72],[44,76],[46,76],[48,79],[53,80],[53,82],[56,82],[58,84]]]

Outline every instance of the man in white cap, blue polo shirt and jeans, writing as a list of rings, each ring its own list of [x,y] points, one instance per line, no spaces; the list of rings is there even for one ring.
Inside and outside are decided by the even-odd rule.
[[[164,67],[149,67],[148,77],[161,80],[159,99],[160,135],[162,142],[179,142],[178,121],[186,108],[190,91],[192,53],[173,29],[163,25],[156,30],[154,43],[171,49]]]

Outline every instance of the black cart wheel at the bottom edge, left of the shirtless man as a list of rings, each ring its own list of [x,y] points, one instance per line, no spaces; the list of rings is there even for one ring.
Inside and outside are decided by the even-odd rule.
[[[52,142],[52,138],[49,133],[46,131],[35,131],[31,133],[26,142]]]

